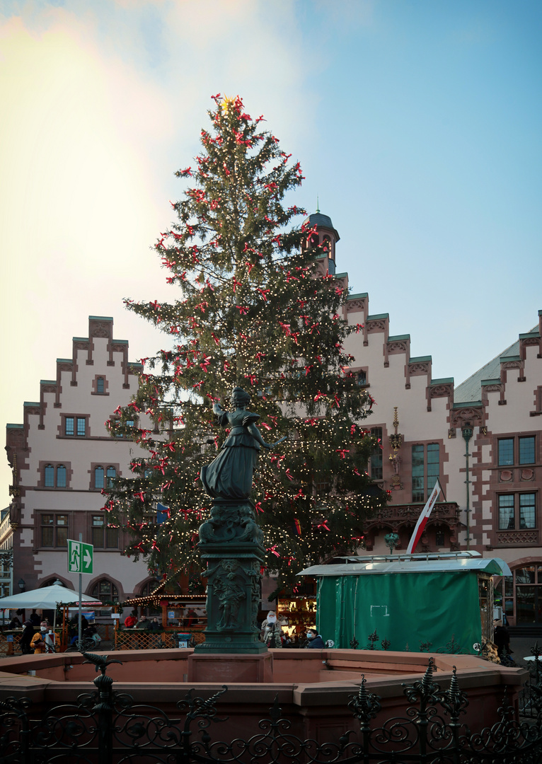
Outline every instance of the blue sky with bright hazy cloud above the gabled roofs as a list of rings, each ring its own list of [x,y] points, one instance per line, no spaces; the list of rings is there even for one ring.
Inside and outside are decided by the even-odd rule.
[[[151,246],[217,92],[300,161],[369,312],[465,380],[542,309],[541,32],[540,0],[0,0],[0,426],[88,316],[164,345],[122,299],[175,299]]]

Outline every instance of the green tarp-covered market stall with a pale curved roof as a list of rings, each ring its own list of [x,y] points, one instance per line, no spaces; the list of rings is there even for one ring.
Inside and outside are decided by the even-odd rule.
[[[318,581],[316,626],[336,648],[385,642],[399,651],[424,645],[475,653],[482,637],[492,639],[493,576],[511,575],[500,558],[450,552],[345,559],[300,572]]]

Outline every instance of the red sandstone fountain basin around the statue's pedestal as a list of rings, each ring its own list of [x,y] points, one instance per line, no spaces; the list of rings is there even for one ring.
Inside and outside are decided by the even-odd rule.
[[[200,656],[192,649],[125,650],[109,654],[109,659],[122,661],[122,665],[109,665],[107,674],[115,682],[115,691],[128,693],[135,703],[157,707],[171,718],[178,717],[177,701],[190,688],[195,689],[193,694],[209,698],[227,685],[216,708],[217,715],[227,716],[229,721],[222,729],[216,728],[217,740],[255,733],[258,721],[268,717],[277,697],[294,734],[325,741],[358,729],[347,704],[359,690],[362,674],[368,692],[381,696],[382,710],[375,726],[390,717],[404,717],[403,685],[422,678],[430,657],[433,681],[443,689],[449,687],[456,666],[459,688],[469,698],[462,721],[473,731],[495,724],[505,688],[508,701],[518,710],[518,694],[527,679],[525,669],[504,668],[476,656],[334,649]],[[57,704],[73,703],[78,695],[94,690],[95,667],[84,660],[73,652],[4,659],[0,699],[31,698],[33,715]]]

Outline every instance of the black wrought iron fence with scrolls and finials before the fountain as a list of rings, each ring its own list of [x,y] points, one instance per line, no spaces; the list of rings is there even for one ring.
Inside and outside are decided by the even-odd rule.
[[[212,698],[193,697],[190,690],[170,718],[159,708],[135,704],[128,694],[113,690],[105,674],[108,656],[83,653],[100,675],[96,691],[82,694],[76,704],[50,708],[40,720],[31,714],[28,698],[0,701],[0,762],[2,764],[539,764],[542,760],[542,698],[534,704],[534,724],[519,723],[507,696],[492,727],[470,733],[461,717],[469,704],[459,689],[454,669],[450,687],[433,681],[433,659],[420,681],[404,686],[404,717],[376,726],[381,698],[368,692],[365,678],[351,696],[349,709],[358,728],[326,743],[301,740],[290,732],[275,699],[269,716],[246,738],[216,741],[213,722],[217,703],[227,688]]]

